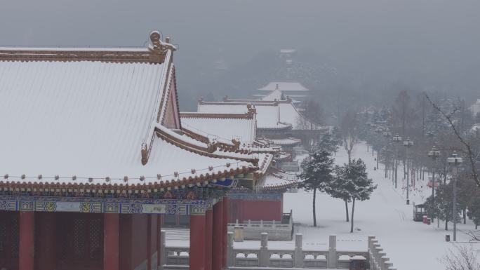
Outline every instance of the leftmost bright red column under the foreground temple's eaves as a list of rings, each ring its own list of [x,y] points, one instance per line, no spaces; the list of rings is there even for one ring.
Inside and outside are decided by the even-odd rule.
[[[20,211],[20,246],[18,249],[18,269],[34,269],[34,212]]]

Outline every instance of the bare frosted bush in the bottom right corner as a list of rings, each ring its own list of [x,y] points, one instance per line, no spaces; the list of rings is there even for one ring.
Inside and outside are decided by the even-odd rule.
[[[454,247],[453,250],[449,249],[448,254],[441,259],[446,270],[480,270],[478,253],[472,245],[454,245]]]

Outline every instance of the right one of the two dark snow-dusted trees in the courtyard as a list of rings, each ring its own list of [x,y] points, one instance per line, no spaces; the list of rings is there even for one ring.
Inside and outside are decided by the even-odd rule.
[[[335,170],[338,173],[326,191],[335,196],[343,196],[344,200],[352,201],[352,218],[350,219],[350,232],[354,229],[355,201],[366,201],[370,199],[373,190],[377,188],[373,180],[368,178],[364,161],[353,159],[350,163],[344,164],[342,168]],[[333,196],[333,195],[332,195]]]

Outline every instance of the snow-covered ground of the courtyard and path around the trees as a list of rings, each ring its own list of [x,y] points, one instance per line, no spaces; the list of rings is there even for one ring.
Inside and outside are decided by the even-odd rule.
[[[406,205],[401,191],[395,190],[391,180],[385,179],[381,165],[380,170],[373,170],[376,163],[371,153],[366,151],[366,144],[356,144],[353,157],[362,158],[365,161],[369,177],[373,177],[378,184],[371,200],[356,203],[353,234],[349,234],[349,223],[345,222],[345,203],[342,201],[330,198],[326,194],[319,194],[316,200],[319,227],[314,228],[312,227],[312,193],[299,191],[296,194],[284,195],[284,212],[293,209],[293,219],[300,223],[296,231],[301,232],[305,238],[304,248],[326,249],[328,235],[336,234],[339,250],[365,250],[367,236],[375,235],[397,269],[444,269],[439,258],[443,257],[446,250],[453,245],[445,242],[445,234],[452,234],[452,231],[444,231],[444,223],[441,223],[440,229],[437,229],[436,222],[432,225],[413,222],[412,205]],[[335,163],[345,162],[347,162],[347,154],[345,150],[340,149],[335,156]],[[401,190],[400,187],[401,177],[399,177],[399,190]],[[423,193],[428,193],[428,190],[425,189]],[[411,196],[411,202],[422,203],[421,196],[422,192],[415,192]],[[449,229],[451,227],[452,224],[449,224]],[[466,225],[459,224],[458,228],[461,231],[457,233],[457,240],[468,241],[468,236],[462,231],[472,229],[473,225],[467,222]],[[274,247],[274,243],[271,246]],[[480,243],[475,243],[474,248],[478,250]]]

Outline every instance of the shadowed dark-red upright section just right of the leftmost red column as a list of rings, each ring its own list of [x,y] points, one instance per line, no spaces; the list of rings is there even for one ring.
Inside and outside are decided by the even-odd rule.
[[[39,227],[38,248],[35,257],[38,262],[38,270],[51,270],[56,268],[56,219],[55,212],[38,212],[36,224]]]

